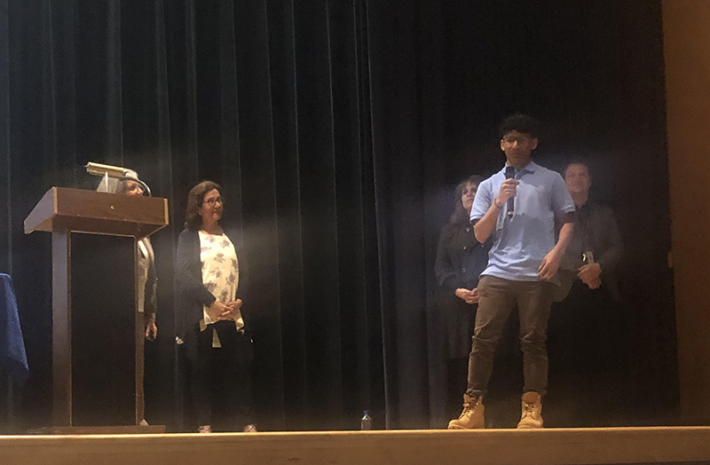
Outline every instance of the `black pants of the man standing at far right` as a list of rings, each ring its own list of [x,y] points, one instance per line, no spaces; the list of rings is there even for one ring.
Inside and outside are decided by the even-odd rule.
[[[604,286],[589,289],[580,280],[556,303],[549,325],[548,399],[555,426],[618,426],[627,421],[626,323],[623,307]]]

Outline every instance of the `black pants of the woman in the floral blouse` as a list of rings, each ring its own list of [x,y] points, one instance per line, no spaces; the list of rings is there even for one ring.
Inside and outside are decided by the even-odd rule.
[[[212,347],[213,328],[221,348]],[[192,394],[199,425],[213,430],[241,430],[252,422],[251,340],[233,321],[218,321],[197,335]]]

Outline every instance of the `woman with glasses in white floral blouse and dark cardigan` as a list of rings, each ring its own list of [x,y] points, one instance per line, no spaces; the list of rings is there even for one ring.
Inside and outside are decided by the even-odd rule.
[[[241,315],[239,257],[234,236],[219,225],[220,186],[195,185],[187,196],[185,230],[177,240],[177,342],[192,367],[192,398],[200,432],[255,430],[250,425],[251,340]]]

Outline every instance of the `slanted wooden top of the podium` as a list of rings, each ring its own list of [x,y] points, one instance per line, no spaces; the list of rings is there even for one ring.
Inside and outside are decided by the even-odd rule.
[[[52,187],[25,218],[25,233],[66,231],[139,239],[168,224],[167,199]]]

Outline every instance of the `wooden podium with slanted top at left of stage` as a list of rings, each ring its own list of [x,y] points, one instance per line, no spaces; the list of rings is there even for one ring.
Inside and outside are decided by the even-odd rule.
[[[144,417],[138,240],[168,225],[168,201],[52,187],[25,219],[51,232],[55,427]]]

